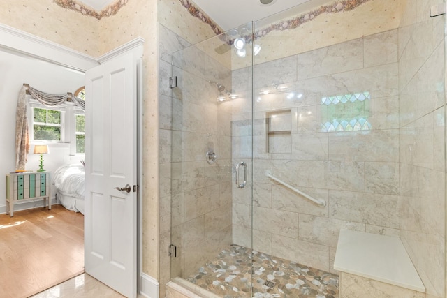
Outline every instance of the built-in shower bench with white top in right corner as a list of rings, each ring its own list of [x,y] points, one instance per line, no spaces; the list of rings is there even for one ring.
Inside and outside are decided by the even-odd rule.
[[[334,269],[339,297],[425,297],[425,287],[398,237],[351,230],[339,234]]]

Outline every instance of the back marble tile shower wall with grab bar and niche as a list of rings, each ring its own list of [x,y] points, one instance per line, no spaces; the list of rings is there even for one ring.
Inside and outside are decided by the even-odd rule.
[[[249,191],[233,186],[235,244],[251,245],[254,228],[254,249],[334,272],[340,229],[400,236],[398,34],[388,30],[263,64],[255,58],[254,210]],[[233,70],[233,87],[249,94],[249,68]],[[260,94],[265,89],[272,93]],[[322,103],[365,92],[361,103]],[[244,120],[250,100],[233,100],[233,163],[250,157],[251,126]],[[291,115],[279,118],[290,122],[282,126],[290,131],[282,134],[285,150],[279,154],[268,147],[267,118],[275,111]],[[369,129],[322,130],[326,119],[360,116]],[[327,205],[289,191],[265,177],[265,170]]]

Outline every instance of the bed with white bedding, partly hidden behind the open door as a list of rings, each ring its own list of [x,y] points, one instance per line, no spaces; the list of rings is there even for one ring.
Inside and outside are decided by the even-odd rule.
[[[56,196],[68,210],[84,214],[85,172],[81,165],[62,165],[52,174]]]

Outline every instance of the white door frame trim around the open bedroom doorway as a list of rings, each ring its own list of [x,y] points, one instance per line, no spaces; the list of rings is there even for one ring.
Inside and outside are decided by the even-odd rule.
[[[27,57],[39,59],[59,65],[64,68],[85,73],[89,68],[94,68],[103,62],[117,57],[124,52],[132,51],[135,57],[142,57],[143,38],[135,38],[129,43],[125,43],[114,50],[107,52],[100,57],[92,57],[82,52],[75,51],[64,45],[59,45],[50,40],[34,36],[25,31],[9,27],[5,24],[0,24],[0,48],[14,52],[15,54],[22,54]],[[142,66],[141,63],[137,66],[138,69],[138,108],[142,107]],[[137,117],[137,183],[140,190],[137,195],[138,210],[137,210],[137,288],[138,292],[147,297],[158,297],[158,282],[142,273],[142,110],[138,111]],[[157,291],[157,292],[155,292]],[[147,292],[147,293],[145,293]]]

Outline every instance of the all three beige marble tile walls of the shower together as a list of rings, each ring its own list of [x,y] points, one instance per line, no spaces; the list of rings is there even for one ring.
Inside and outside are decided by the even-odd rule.
[[[362,38],[255,59],[253,131],[251,67],[238,66],[249,64],[235,57],[217,61],[207,51],[219,41],[187,47],[175,30],[160,26],[161,267],[170,264],[163,249],[171,236],[182,247],[172,276],[207,260],[219,243],[251,247],[253,236],[258,251],[334,272],[338,233],[348,228],[402,237],[427,297],[444,297],[444,20],[426,13],[437,2],[401,1],[385,17],[400,21],[398,29],[383,19],[387,27],[366,30]],[[172,68],[167,53],[177,50]],[[172,72],[179,88],[167,87]],[[233,87],[240,98],[217,104],[207,80]],[[286,92],[274,89],[279,84]],[[273,92],[259,94],[265,88]],[[355,110],[369,129],[322,131],[330,114],[322,98],[362,92],[368,96],[361,105],[332,113]],[[275,150],[282,139],[290,148],[276,154],[267,120],[274,111],[291,116],[288,136],[274,139]],[[210,145],[221,156],[217,165],[202,159]],[[240,161],[250,169],[242,189],[234,184]],[[316,207],[265,177],[265,170],[328,204]]]

